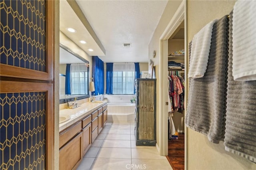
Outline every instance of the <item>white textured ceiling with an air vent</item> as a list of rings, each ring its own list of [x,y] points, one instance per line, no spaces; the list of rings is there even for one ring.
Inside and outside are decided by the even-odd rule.
[[[148,44],[167,0],[76,2],[106,49],[105,56],[98,55],[104,62],[148,62]],[[132,46],[124,48],[122,43]]]

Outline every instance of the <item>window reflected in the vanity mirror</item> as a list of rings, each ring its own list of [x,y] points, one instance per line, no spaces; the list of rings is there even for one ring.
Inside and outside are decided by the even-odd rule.
[[[71,94],[88,95],[88,68],[86,65],[71,65]]]

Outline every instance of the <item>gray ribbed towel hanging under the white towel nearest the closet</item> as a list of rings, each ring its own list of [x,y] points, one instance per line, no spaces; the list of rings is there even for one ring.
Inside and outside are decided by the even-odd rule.
[[[219,143],[224,136],[227,49],[228,18],[224,16],[213,26],[208,66],[204,77],[189,79],[185,124],[206,135],[208,140],[214,143]]]

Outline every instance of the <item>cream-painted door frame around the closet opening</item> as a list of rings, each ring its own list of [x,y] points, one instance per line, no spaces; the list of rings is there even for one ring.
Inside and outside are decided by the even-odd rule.
[[[173,18],[170,20],[168,26],[164,30],[162,36],[160,37],[160,141],[159,141],[159,150],[160,155],[166,156],[168,155],[168,108],[166,106],[166,101],[168,101],[168,97],[166,95],[168,89],[167,85],[167,77],[168,77],[168,39],[175,30],[178,28],[180,23],[185,20],[186,21],[186,1],[182,0],[180,6],[176,10]],[[185,51],[186,51],[186,22],[185,22]],[[185,55],[186,56],[186,55]],[[185,65],[186,65],[186,57],[185,57]],[[186,74],[186,68],[185,68]],[[187,82],[187,80],[185,80]],[[186,101],[186,97],[185,97]],[[185,110],[186,113],[186,110]],[[186,135],[186,128],[184,129]],[[185,136],[185,144],[186,144],[186,136]],[[185,169],[186,169],[186,148],[185,148]]]

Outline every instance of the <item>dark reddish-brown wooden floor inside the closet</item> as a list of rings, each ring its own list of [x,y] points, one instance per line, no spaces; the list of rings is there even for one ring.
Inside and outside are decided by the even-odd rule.
[[[168,140],[168,156],[166,156],[173,170],[184,170],[184,134],[178,139]]]

